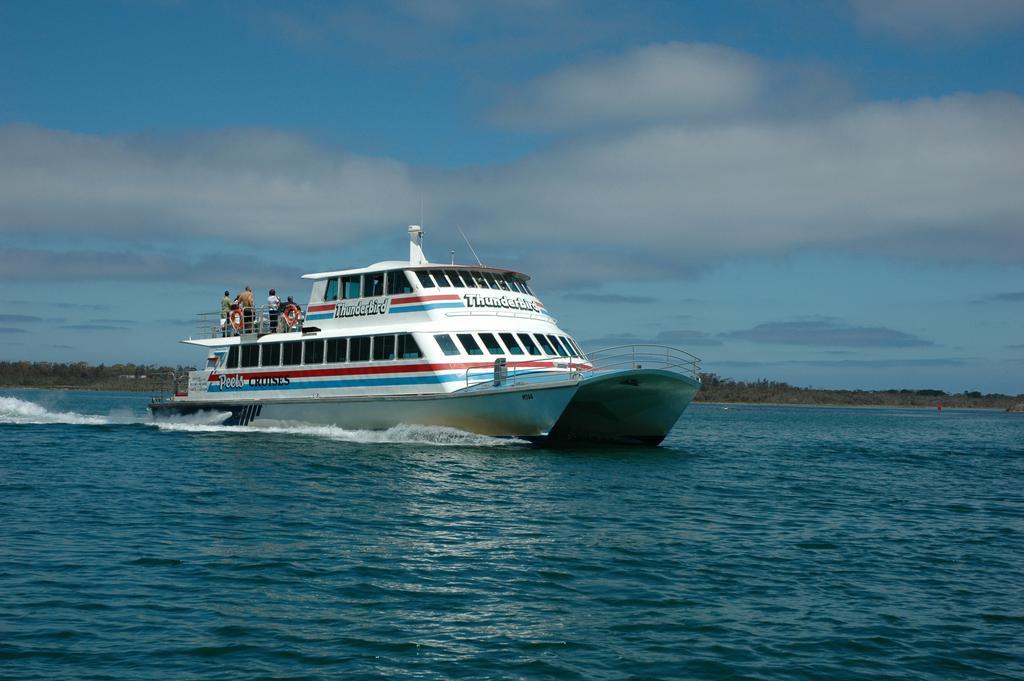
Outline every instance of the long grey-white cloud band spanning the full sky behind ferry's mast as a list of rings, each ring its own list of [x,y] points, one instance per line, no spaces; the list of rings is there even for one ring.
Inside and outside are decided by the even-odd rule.
[[[433,225],[460,222],[485,259],[552,284],[809,248],[1020,263],[1021,158],[1024,101],[1000,94],[648,125],[457,171],[272,132],[6,127],[0,233],[330,249],[400,232],[426,197]]]

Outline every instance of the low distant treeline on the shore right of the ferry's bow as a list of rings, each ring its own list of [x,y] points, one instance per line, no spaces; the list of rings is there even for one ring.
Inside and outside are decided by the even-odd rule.
[[[825,390],[798,388],[779,381],[734,381],[716,374],[701,374],[703,386],[693,401],[753,402],[771,405],[849,405],[863,407],[942,407],[965,409],[1010,409],[1024,402],[1017,396],[978,391],[945,392],[944,390]]]

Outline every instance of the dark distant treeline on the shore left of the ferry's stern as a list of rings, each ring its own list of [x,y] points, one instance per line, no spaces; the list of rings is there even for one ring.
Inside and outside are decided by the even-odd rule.
[[[189,367],[99,365],[76,361],[0,361],[0,386],[7,388],[76,388],[160,392],[172,385],[171,376]]]

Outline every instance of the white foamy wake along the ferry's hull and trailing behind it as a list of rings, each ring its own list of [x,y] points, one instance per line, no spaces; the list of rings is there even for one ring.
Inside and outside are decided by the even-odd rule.
[[[295,424],[287,427],[222,425],[229,412],[200,412],[152,420],[128,412],[108,416],[50,411],[17,397],[0,396],[0,425],[63,424],[80,426],[142,425],[168,432],[220,433],[236,436],[261,434],[305,435],[343,442],[381,444],[433,444],[442,446],[508,446],[528,444],[515,438],[488,437],[443,426],[398,425],[387,430],[347,430],[337,426]]]

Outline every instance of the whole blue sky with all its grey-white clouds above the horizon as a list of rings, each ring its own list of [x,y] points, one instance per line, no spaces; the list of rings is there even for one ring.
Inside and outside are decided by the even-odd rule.
[[[1019,0],[0,0],[0,359],[196,365],[422,223],[592,349],[1024,393]]]

